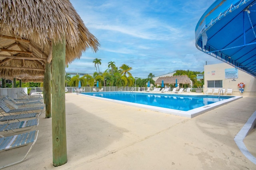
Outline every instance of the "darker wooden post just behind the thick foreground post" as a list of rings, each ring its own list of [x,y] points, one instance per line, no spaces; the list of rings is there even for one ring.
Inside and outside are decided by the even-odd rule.
[[[45,118],[52,117],[52,92],[51,92],[52,71],[51,63],[46,63],[44,72],[44,103]]]

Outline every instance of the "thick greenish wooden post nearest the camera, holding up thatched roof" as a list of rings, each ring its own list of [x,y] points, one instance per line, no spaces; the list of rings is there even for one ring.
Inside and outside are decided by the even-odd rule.
[[[53,166],[68,161],[65,108],[66,40],[52,45],[52,156]]]

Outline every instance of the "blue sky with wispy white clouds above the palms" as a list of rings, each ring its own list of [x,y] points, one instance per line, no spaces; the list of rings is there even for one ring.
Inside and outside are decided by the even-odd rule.
[[[177,69],[203,71],[221,61],[195,46],[195,28],[214,0],[70,0],[88,30],[100,41],[97,53],[88,49],[66,71],[93,73],[114,61],[132,67],[133,77],[146,78]]]

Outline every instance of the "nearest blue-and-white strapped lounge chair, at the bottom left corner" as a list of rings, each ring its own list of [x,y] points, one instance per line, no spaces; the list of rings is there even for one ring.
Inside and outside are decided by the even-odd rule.
[[[38,137],[38,132],[39,132],[38,130],[34,130],[31,132],[16,134],[14,136],[2,137],[2,138],[0,138],[0,151],[9,150],[9,149],[17,148],[20,146],[25,146],[25,145],[32,143],[32,145],[28,149],[28,152],[30,152],[31,148],[36,143],[36,140]],[[8,165],[4,165],[4,166],[0,167],[0,169],[15,165],[15,164],[19,164],[20,162],[24,161],[26,156],[28,155],[28,152],[21,160],[19,160],[17,162],[13,162]]]

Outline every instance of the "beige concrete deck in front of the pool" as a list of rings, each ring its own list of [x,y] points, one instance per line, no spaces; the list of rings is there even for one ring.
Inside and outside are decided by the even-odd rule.
[[[42,113],[26,160],[5,170],[256,169],[234,141],[255,111],[256,97],[243,97],[190,119],[66,93],[68,162],[52,166],[52,119]],[[244,139],[253,156],[255,141],[254,128]],[[23,149],[0,152],[1,162]]]

